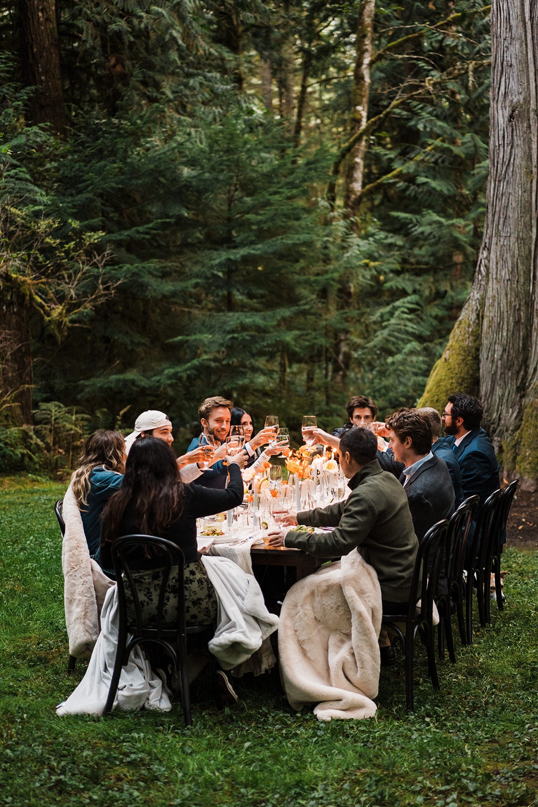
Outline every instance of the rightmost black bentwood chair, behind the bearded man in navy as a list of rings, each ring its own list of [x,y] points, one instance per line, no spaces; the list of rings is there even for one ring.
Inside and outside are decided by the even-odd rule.
[[[477,592],[478,618],[482,627],[486,625],[486,598],[490,598],[491,558],[496,545],[497,514],[501,498],[500,489],[494,491],[482,504],[474,529],[473,540],[467,545],[465,568],[465,618],[467,622],[467,643],[473,644],[473,588]],[[489,603],[488,603],[489,604]]]

